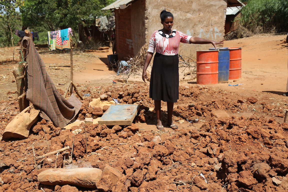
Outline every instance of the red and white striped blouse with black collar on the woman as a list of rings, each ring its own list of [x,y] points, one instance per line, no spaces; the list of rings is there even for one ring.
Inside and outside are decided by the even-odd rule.
[[[191,37],[175,29],[170,36],[163,35],[162,31],[154,31],[149,41],[148,52],[154,53],[156,49],[156,52],[162,55],[177,55],[180,42],[189,43]]]

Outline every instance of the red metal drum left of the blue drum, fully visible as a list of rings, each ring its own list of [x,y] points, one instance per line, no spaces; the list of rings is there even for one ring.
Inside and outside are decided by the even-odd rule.
[[[196,51],[197,84],[218,83],[218,52],[219,50]]]

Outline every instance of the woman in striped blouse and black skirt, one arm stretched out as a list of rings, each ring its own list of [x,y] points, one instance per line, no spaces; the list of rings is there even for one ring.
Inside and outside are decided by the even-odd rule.
[[[150,98],[154,100],[157,116],[157,129],[164,130],[161,121],[161,100],[167,102],[167,125],[172,129],[178,126],[172,122],[174,103],[179,99],[179,69],[178,69],[178,49],[179,43],[209,44],[215,48],[223,41],[215,42],[199,37],[191,37],[176,30],[172,30],[173,14],[165,9],[160,13],[163,29],[154,31],[149,41],[148,52],[145,58],[142,79],[147,79],[146,69],[154,56],[151,79],[150,79]]]

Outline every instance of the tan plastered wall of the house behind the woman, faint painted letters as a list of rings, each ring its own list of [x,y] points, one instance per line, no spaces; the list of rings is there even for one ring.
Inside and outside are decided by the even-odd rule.
[[[166,8],[174,16],[173,29],[193,37],[221,41],[224,36],[227,1],[224,0],[146,0],[146,41],[155,30],[162,29],[161,9]],[[208,50],[209,45],[180,43],[179,54],[196,56],[196,50]]]

